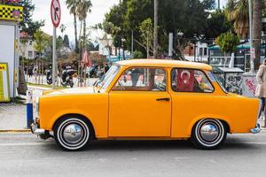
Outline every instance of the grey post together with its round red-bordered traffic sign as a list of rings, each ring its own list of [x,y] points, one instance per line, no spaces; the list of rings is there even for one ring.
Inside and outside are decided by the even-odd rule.
[[[56,87],[57,78],[57,27],[59,27],[61,19],[61,8],[59,0],[51,0],[51,22],[53,25],[52,36],[52,88]]]

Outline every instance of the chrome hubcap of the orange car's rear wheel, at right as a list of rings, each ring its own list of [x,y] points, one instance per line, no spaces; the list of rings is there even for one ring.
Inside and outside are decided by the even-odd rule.
[[[204,124],[200,127],[200,136],[207,142],[213,142],[219,135],[219,129],[214,124]]]

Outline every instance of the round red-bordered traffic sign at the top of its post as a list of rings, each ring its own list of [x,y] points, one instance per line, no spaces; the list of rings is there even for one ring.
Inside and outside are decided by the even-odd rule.
[[[59,27],[61,20],[61,7],[59,0],[51,0],[51,22],[53,27]]]

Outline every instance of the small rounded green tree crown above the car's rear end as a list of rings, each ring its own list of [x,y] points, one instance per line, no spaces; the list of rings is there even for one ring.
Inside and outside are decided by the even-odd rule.
[[[215,43],[219,45],[220,50],[224,53],[232,53],[237,50],[239,36],[229,32],[223,33],[215,39]]]

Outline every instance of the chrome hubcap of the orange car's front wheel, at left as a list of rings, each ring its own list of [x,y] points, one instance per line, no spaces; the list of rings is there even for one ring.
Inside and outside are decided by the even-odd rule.
[[[80,142],[83,137],[83,130],[80,125],[70,124],[65,127],[63,137],[68,143]]]

